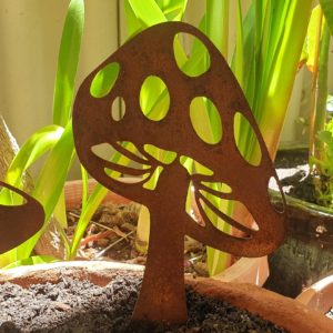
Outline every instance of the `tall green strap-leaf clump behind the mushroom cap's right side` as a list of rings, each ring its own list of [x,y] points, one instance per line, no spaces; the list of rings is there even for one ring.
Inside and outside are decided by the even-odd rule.
[[[174,7],[159,4],[160,10],[154,3],[151,3],[150,10],[144,10],[142,3],[127,1],[125,13],[130,18],[128,33],[130,36],[135,34],[147,27],[165,20],[182,19],[184,3],[184,1],[179,1],[178,6]],[[229,50],[228,43],[229,21],[231,19],[229,1],[223,1],[223,3],[208,1],[204,16],[199,24],[200,29],[211,38],[222,54],[226,59],[232,59],[233,72],[253,110],[272,158],[276,152],[279,135],[296,74],[311,6],[312,1],[302,4],[290,1],[258,4],[253,1],[246,14],[243,16],[243,6],[240,1],[236,2],[238,23],[234,50]],[[276,29],[271,29],[271,27]],[[268,47],[269,44],[271,47]],[[283,46],[283,48],[280,46]],[[200,43],[194,41],[192,49],[191,46],[188,47],[186,53],[189,61],[185,70],[190,73],[191,71],[192,73],[204,71],[208,65],[206,54]],[[186,61],[181,52],[178,52],[178,57],[180,63]],[[147,99],[150,105],[154,104],[151,95],[148,95]],[[204,132],[208,140],[209,137],[214,138],[214,135],[218,135],[216,124],[210,115],[210,105],[201,103],[199,105],[199,110],[201,110],[200,118],[198,118],[201,127],[205,127]],[[153,110],[150,112],[153,112]],[[239,138],[238,147],[244,158],[250,163],[255,164],[259,160],[260,150],[258,149],[255,134],[246,121],[239,120],[235,137]],[[239,216],[240,220],[249,220],[249,224],[253,223],[244,206],[224,201],[224,203],[220,202],[220,208],[230,216]],[[142,222],[142,224],[144,223],[147,222]],[[223,220],[218,219],[215,224],[231,232],[230,226]],[[139,221],[139,231],[140,225]],[[229,262],[230,258],[225,253],[208,249],[210,275],[213,276],[223,271]]]

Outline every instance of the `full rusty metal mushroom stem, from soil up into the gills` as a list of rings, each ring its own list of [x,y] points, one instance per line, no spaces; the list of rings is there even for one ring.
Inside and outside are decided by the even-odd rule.
[[[149,252],[132,321],[184,323],[184,214],[189,183],[180,163],[168,165],[151,209]]]

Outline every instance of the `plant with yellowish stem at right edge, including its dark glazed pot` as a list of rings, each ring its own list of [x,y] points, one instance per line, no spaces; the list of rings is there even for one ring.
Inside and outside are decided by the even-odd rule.
[[[289,233],[285,243],[270,256],[272,274],[266,284],[289,296],[296,296],[303,287],[326,276],[333,269],[332,125],[326,112],[332,10],[329,1],[321,2],[321,6],[313,9],[305,44],[307,67],[313,75],[309,163],[303,162],[309,168],[301,171],[299,168],[291,169],[293,171],[285,178],[285,185],[292,188],[292,198],[286,196]],[[292,151],[285,151],[287,153]],[[285,173],[284,169],[281,172]]]

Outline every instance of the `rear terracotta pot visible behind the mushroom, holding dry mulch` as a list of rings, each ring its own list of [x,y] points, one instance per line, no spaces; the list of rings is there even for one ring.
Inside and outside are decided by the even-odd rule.
[[[135,179],[128,178],[127,182],[133,182]],[[95,180],[89,180],[89,193],[92,192],[95,186]],[[70,181],[65,183],[64,186],[65,204],[67,208],[78,208],[81,205],[82,198],[82,182],[81,181]],[[119,204],[127,204],[130,202],[117,193],[111,191],[108,192],[103,202],[114,202]],[[195,208],[194,208],[195,209]],[[198,212],[199,214],[199,212]],[[262,286],[269,276],[269,264],[268,258],[241,258],[223,273],[213,276],[215,280],[224,282],[243,282],[253,283],[255,285]]]

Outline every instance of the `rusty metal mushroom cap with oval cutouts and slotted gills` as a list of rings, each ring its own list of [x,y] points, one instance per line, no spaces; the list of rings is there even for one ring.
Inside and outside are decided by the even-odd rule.
[[[210,57],[209,69],[200,75],[189,77],[178,65],[174,56],[174,38],[179,33],[189,33],[198,38],[206,48]],[[91,94],[93,80],[108,65],[118,64],[119,73],[110,91],[101,97]],[[142,112],[140,92],[149,77],[160,78],[170,94],[170,105],[165,115],[154,121]],[[121,120],[111,117],[111,105],[122,98],[127,112]],[[222,137],[213,144],[200,138],[190,117],[190,104],[199,97],[213,102],[222,120]],[[234,135],[235,115],[245,118],[256,137],[261,160],[253,165],[244,159],[238,149]],[[246,99],[231,72],[228,63],[214,44],[195,28],[181,22],[167,22],[153,26],[137,34],[110,58],[93,70],[80,87],[73,109],[73,132],[78,155],[89,173],[99,182],[133,201],[145,204],[150,210],[160,210],[161,200],[174,199],[180,221],[185,233],[210,244],[213,248],[236,255],[261,256],[272,252],[284,236],[284,213],[278,212],[269,198],[269,181],[278,180],[264,140],[255,123]],[[142,164],[148,161],[150,170],[164,168],[154,191],[143,186],[145,180],[134,184],[123,184],[109,176],[108,170],[122,174],[142,175],[145,171],[120,165],[98,157],[92,148],[109,143],[124,155],[128,153],[121,142],[131,142],[142,153]],[[151,144],[164,151],[176,153],[175,160],[167,165],[145,153]],[[191,158],[212,171],[212,175],[189,174],[175,167],[182,157]],[[178,175],[169,175],[171,172]],[[184,175],[185,174],[185,175]],[[213,193],[221,199],[242,202],[259,225],[258,231],[249,230],[249,238],[224,234],[210,223],[204,209],[199,204],[204,226],[194,223],[184,211],[184,191],[190,182],[200,194],[202,182],[228,184],[232,191],[228,195]],[[176,185],[175,185],[176,184]],[[175,185],[175,186],[174,186]],[[175,188],[175,189],[174,189]],[[174,189],[174,190],[172,190]],[[180,194],[178,194],[180,193]],[[205,202],[205,204],[209,204]],[[228,216],[225,216],[228,220]],[[239,225],[233,219],[226,222]],[[239,225],[240,226],[240,225]],[[240,226],[241,228],[241,226]]]

